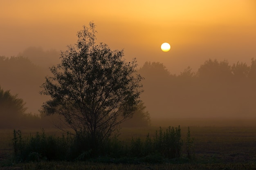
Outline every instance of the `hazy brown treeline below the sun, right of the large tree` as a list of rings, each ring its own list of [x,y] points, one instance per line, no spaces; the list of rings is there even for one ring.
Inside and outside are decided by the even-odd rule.
[[[256,60],[251,65],[207,60],[193,72],[169,73],[159,62],[139,69],[151,117],[255,117]]]

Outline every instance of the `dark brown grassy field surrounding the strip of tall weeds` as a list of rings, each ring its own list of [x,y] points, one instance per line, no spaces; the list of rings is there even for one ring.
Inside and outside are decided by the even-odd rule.
[[[254,121],[255,122],[255,121]],[[171,126],[173,123],[169,122]],[[177,124],[177,121],[175,121]],[[95,162],[31,162],[13,164],[11,157],[13,129],[0,130],[0,169],[52,169],[52,170],[256,170],[256,124],[236,124],[236,122],[225,124],[202,124],[196,126],[181,122],[182,139],[185,141],[187,127],[190,126],[191,137],[194,138],[193,160],[183,159],[182,161],[166,160],[160,164],[121,164],[121,163],[95,163]],[[168,125],[163,124],[163,128]],[[150,128],[122,128],[119,139],[130,141],[132,137],[144,139],[149,133],[155,134],[159,129],[159,122],[153,122]],[[188,125],[188,126],[186,126]],[[235,126],[236,125],[236,126]],[[20,129],[24,136],[33,135],[38,129]],[[46,134],[61,135],[57,129],[45,129]],[[185,157],[183,151],[183,157]]]

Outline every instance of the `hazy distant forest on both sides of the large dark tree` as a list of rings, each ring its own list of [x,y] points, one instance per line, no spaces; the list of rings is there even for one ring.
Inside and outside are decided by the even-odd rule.
[[[33,56],[35,52],[40,57],[48,57],[40,62],[40,57]],[[38,114],[47,100],[39,94],[40,86],[45,76],[50,75],[49,67],[58,62],[56,51],[43,52],[36,48],[20,53],[19,57],[2,56],[0,86],[18,94],[26,102],[28,113]],[[162,63],[146,62],[138,72],[145,78],[141,100],[152,119],[256,117],[254,58],[250,65],[209,59],[198,71],[192,72],[192,68],[187,67],[179,75],[170,73]]]

